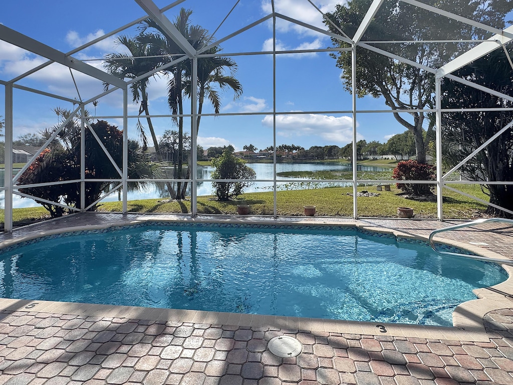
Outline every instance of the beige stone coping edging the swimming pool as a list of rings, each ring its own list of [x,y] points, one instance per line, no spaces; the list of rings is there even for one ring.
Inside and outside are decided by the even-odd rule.
[[[322,220],[322,219],[321,219]],[[291,222],[290,220],[264,219],[235,217],[235,218],[191,218],[176,217],[166,218],[162,215],[145,216],[141,215],[137,219],[125,219],[110,223],[101,223],[95,225],[81,225],[67,228],[55,228],[49,230],[34,231],[24,236],[8,239],[0,242],[0,249],[12,246],[17,243],[29,241],[36,238],[51,236],[63,233],[81,232],[84,230],[100,230],[112,227],[130,226],[144,224],[147,222],[166,222],[166,223],[205,223],[205,224],[238,224],[238,225],[305,225],[305,226],[336,226],[358,228],[367,232],[388,234],[396,237],[397,240],[410,239],[427,242],[428,238],[421,235],[413,235],[402,232],[397,229],[383,228],[361,223],[358,220],[349,220],[346,222],[331,222],[319,219],[301,220]],[[480,256],[509,259],[488,251],[479,246],[469,245],[467,243],[436,237],[437,242],[448,246],[454,246],[465,249]],[[348,321],[331,320],[318,318],[301,318],[285,316],[252,315],[241,313],[223,313],[207,312],[196,310],[180,309],[161,309],[137,306],[118,306],[103,304],[88,304],[77,302],[58,302],[58,301],[34,301],[25,299],[0,298],[1,310],[15,310],[22,312],[43,312],[43,313],[61,313],[71,315],[85,316],[103,316],[112,318],[137,318],[149,319],[155,321],[179,321],[206,324],[226,324],[236,326],[250,326],[259,328],[269,326],[271,328],[301,330],[301,331],[321,331],[334,333],[365,334],[373,336],[394,336],[394,337],[418,337],[431,339],[459,340],[471,342],[489,342],[487,332],[484,328],[483,317],[486,313],[494,310],[500,310],[511,307],[513,301],[513,267],[510,265],[501,265],[508,273],[508,278],[495,286],[479,288],[473,292],[478,299],[461,303],[453,312],[453,326],[430,326],[416,324],[383,323],[367,321]]]

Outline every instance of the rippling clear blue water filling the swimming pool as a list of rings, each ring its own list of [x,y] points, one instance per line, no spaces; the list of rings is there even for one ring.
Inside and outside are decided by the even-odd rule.
[[[506,278],[419,242],[320,227],[124,227],[0,255],[7,298],[435,325]]]

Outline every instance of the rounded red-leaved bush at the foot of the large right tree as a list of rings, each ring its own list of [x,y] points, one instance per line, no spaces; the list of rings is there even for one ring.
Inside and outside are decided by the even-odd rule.
[[[419,163],[416,160],[399,162],[393,169],[392,179],[399,181],[417,180],[433,181],[435,177],[435,166]],[[397,188],[413,195],[431,194],[432,184],[410,184],[396,183]]]

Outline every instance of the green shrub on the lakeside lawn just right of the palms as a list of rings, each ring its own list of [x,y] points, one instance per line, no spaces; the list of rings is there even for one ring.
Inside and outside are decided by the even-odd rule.
[[[241,159],[235,158],[233,150],[225,148],[219,158],[212,160],[215,170],[212,172],[212,179],[255,179],[257,173],[244,164]],[[215,188],[215,195],[220,201],[228,201],[242,194],[245,187],[253,182],[212,182]]]

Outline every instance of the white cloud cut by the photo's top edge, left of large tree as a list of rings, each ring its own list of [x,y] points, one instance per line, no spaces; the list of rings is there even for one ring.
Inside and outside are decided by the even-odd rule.
[[[317,7],[324,13],[333,11],[337,3],[339,2],[333,0],[315,1],[315,5],[317,5]],[[262,10],[266,14],[272,12],[271,2],[269,0],[262,1]],[[295,20],[299,20],[300,22],[310,24],[314,27],[326,29],[326,26],[322,21],[322,14],[307,1],[298,2],[297,0],[274,0],[274,10],[285,16],[289,16],[291,18],[294,18]],[[281,19],[277,20],[276,26],[278,31],[280,32],[288,32],[292,30],[300,34],[319,35],[318,32],[306,29],[296,24],[286,22]]]

